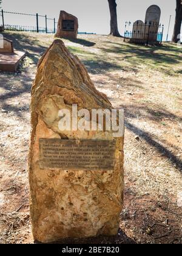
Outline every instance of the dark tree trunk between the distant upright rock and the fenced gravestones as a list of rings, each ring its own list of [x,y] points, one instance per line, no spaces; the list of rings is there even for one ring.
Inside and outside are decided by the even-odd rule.
[[[108,2],[110,9],[110,35],[113,35],[114,37],[121,37],[118,31],[116,0],[108,0]]]

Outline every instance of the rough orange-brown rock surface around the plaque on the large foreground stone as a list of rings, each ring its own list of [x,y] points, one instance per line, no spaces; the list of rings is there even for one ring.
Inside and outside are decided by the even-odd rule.
[[[113,170],[39,168],[39,138],[113,140],[110,131],[60,132],[58,110],[71,109],[72,104],[88,110],[112,108],[79,59],[61,40],[55,40],[39,61],[31,103],[30,216],[34,239],[44,243],[118,231],[123,206],[123,137],[115,139]]]

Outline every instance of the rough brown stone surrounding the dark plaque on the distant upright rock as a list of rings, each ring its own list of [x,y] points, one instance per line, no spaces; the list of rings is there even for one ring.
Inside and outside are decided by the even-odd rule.
[[[74,31],[66,31],[62,28],[62,21],[74,21]],[[55,37],[76,39],[78,35],[78,18],[67,12],[61,11],[58,20],[58,28]]]

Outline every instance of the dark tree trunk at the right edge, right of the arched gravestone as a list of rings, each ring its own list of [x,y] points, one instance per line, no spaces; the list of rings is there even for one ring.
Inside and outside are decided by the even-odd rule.
[[[181,21],[182,21],[182,0],[177,0],[174,34],[172,37],[172,41],[174,43],[178,43],[178,41],[180,41],[180,36],[178,35],[180,35],[181,33]]]

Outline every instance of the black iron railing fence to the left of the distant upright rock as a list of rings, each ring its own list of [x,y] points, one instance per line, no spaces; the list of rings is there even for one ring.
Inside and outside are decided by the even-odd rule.
[[[24,25],[15,25],[6,23],[6,15],[24,15],[31,16],[33,18],[34,26],[24,26]],[[25,32],[42,32],[42,33],[54,33],[56,32],[56,20],[55,18],[48,18],[47,15],[39,15],[30,14],[30,13],[18,13],[18,12],[6,12],[1,10],[2,23],[1,25],[5,30],[13,30],[13,31],[25,31]],[[41,19],[41,23],[43,26],[39,26],[39,21]],[[43,19],[43,20],[42,20]],[[50,26],[48,26],[48,22],[50,22]]]

